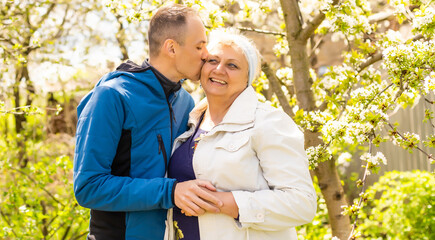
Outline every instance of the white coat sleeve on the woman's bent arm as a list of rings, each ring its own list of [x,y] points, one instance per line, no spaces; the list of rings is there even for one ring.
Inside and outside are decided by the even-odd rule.
[[[316,214],[317,198],[304,150],[304,136],[281,111],[256,121],[252,146],[269,190],[233,191],[241,228],[283,230],[306,224]]]

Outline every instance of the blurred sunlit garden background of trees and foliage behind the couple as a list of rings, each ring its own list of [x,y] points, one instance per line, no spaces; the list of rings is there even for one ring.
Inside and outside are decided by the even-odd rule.
[[[318,192],[300,239],[433,239],[431,0],[0,0],[0,238],[85,238],[75,108],[103,74],[147,57],[148,21],[170,2],[261,51],[254,86],[304,130]]]

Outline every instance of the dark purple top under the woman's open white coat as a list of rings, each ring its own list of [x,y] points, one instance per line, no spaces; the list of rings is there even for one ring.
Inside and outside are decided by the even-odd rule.
[[[206,131],[199,128],[201,121],[202,118],[198,123],[198,127],[195,129],[195,133],[182,143],[180,147],[175,150],[174,154],[172,154],[169,161],[169,178],[175,178],[178,182],[196,179],[192,166],[193,153],[195,152],[197,143],[201,139],[201,134],[206,133]],[[184,235],[183,240],[199,240],[198,217],[188,217],[182,214],[181,209],[177,206],[175,206],[173,210],[176,236],[180,236],[179,231],[181,230]]]

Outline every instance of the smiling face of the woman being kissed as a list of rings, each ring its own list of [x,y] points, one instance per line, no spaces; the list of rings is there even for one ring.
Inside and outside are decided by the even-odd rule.
[[[248,84],[248,68],[240,48],[217,45],[209,49],[200,79],[207,98],[232,103]]]

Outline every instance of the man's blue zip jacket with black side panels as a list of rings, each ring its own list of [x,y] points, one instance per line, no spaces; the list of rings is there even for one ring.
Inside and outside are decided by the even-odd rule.
[[[105,75],[77,108],[74,193],[91,209],[88,239],[163,239],[174,206],[165,173],[194,102],[183,88],[167,97],[144,64]]]

